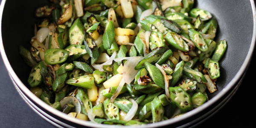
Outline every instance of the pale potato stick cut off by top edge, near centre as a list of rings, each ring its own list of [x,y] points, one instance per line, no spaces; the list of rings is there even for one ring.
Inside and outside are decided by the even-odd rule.
[[[125,18],[131,18],[134,16],[134,11],[131,6],[130,0],[120,0],[121,7]]]

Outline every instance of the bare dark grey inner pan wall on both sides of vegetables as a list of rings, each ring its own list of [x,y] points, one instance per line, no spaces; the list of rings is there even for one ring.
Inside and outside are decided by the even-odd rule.
[[[246,58],[253,37],[253,13],[250,0],[196,1],[198,8],[211,12],[218,20],[215,40],[226,39],[228,43],[227,52],[220,61],[218,91],[209,94],[211,98],[233,79]],[[48,0],[6,0],[3,11],[3,46],[13,70],[25,85],[28,85],[30,68],[19,55],[19,45],[29,48],[31,37],[34,36],[34,24],[38,22],[34,11],[47,3]]]

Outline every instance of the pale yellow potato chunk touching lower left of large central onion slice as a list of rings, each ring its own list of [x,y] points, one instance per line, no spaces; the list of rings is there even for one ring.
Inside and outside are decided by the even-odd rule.
[[[122,79],[122,74],[116,74],[107,81],[103,82],[103,85],[106,89],[110,87],[117,87],[119,85],[119,82]]]

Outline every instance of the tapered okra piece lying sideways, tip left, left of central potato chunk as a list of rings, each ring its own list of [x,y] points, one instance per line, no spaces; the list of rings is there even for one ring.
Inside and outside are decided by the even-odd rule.
[[[67,80],[66,83],[69,85],[90,89],[94,85],[94,78],[89,75],[84,75],[80,77],[73,77]]]

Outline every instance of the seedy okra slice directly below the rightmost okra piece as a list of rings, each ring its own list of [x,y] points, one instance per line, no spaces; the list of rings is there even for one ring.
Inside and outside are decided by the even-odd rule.
[[[205,68],[207,68],[208,74],[212,80],[220,77],[220,67],[217,61],[209,59],[205,63]]]

